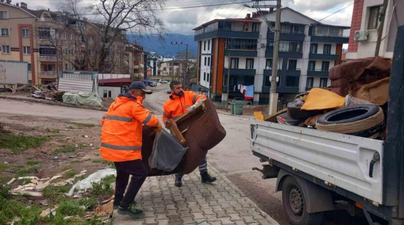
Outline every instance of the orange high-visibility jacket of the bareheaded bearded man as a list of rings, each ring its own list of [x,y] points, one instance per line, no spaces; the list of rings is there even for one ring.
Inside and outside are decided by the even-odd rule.
[[[195,104],[197,100],[204,100],[204,95],[197,95],[192,91],[185,91],[184,95],[177,96],[172,93],[163,105],[163,121],[175,120],[182,114],[188,112],[188,107]]]

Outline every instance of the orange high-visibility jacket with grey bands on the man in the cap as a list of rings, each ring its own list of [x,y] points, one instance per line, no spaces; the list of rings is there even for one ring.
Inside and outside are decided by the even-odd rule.
[[[157,126],[159,119],[142,105],[142,97],[119,95],[101,120],[100,155],[113,162],[142,159],[142,124]]]

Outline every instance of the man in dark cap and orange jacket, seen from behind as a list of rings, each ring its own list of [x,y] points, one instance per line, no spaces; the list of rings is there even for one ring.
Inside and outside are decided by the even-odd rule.
[[[142,104],[145,94],[151,91],[144,83],[133,82],[129,93],[119,95],[101,121],[99,152],[103,159],[114,162],[117,169],[114,208],[133,217],[143,215],[142,210],[135,208],[134,199],[147,176],[141,154],[142,125],[156,127],[156,132],[162,130],[157,117]],[[132,175],[130,183],[129,175]]]

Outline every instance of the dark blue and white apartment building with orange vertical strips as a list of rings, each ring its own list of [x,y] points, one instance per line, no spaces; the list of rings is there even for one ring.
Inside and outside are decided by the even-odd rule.
[[[268,23],[267,23],[268,21]],[[268,25],[267,25],[268,24]],[[269,102],[275,11],[243,19],[218,19],[195,30],[197,81],[210,98],[226,103],[240,97],[238,84],[254,85],[254,104]],[[340,64],[344,26],[317,23],[290,8],[281,12],[277,93],[284,102],[299,92],[329,84],[328,71]]]

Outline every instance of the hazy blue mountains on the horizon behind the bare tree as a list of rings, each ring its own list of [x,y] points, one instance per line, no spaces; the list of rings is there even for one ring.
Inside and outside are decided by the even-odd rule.
[[[176,56],[177,52],[185,53],[185,46],[177,46],[171,44],[175,43],[187,43],[188,44],[188,54],[189,52],[195,57],[197,54],[198,42],[194,41],[194,35],[183,35],[179,33],[168,33],[163,36],[163,40],[159,40],[158,35],[152,34],[147,36],[141,36],[134,38],[133,36],[128,36],[129,40],[135,40],[138,44],[143,47],[145,52],[155,52],[158,55],[163,55],[166,57]],[[179,48],[179,49],[178,49]],[[189,58],[192,58],[189,56]]]

